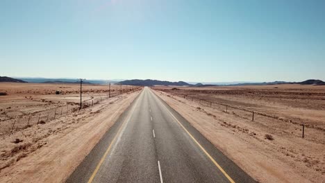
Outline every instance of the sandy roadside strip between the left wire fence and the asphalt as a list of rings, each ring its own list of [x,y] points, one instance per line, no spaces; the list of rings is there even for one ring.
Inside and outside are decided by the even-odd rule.
[[[0,182],[64,182],[138,94],[1,137]]]

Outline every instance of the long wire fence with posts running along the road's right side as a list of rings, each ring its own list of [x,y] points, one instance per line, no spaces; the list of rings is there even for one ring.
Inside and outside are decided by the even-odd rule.
[[[237,116],[241,119],[246,119],[249,121],[259,122],[265,125],[265,121],[270,122],[265,125],[266,128],[272,128],[273,130],[281,129],[284,132],[287,132],[290,135],[294,135],[296,137],[302,137],[303,139],[309,141],[315,141],[317,143],[325,144],[325,129],[318,127],[309,127],[308,124],[298,123],[292,121],[290,119],[284,119],[276,115],[265,114],[262,112],[257,112],[253,110],[247,110],[242,107],[236,107],[232,105],[227,105],[226,103],[217,103],[215,101],[208,101],[203,98],[199,98],[198,96],[189,96],[185,94],[176,94],[175,92],[171,92],[170,89],[156,89],[162,92],[166,92],[167,94],[172,94],[173,96],[178,96],[181,98],[185,98],[188,101],[192,101],[195,103],[199,103],[200,105],[210,107],[214,110],[219,110],[221,112],[225,112],[226,114],[231,114]],[[210,114],[213,115],[213,114]],[[283,123],[285,122],[285,123]],[[280,124],[281,123],[281,124]],[[283,125],[285,124],[285,125]]]

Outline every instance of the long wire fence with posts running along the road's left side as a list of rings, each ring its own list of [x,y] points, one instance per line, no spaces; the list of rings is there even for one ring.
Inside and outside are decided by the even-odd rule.
[[[6,118],[0,121],[0,136],[12,134],[13,132],[24,130],[33,125],[44,124],[52,121],[54,119],[59,119],[63,116],[67,116],[68,114],[72,114],[74,112],[78,112],[79,110],[83,110],[87,107],[92,107],[93,105],[97,105],[101,101],[107,100],[108,98],[113,98],[115,96],[119,96],[121,94],[132,93],[138,91],[140,87],[134,87],[133,89],[124,89],[120,92],[112,92],[110,94],[105,94],[102,96],[96,96],[90,98],[86,101],[83,101],[82,107],[79,104],[67,104],[60,106],[53,106],[49,110],[43,110],[42,112],[35,112],[33,114],[25,114],[20,116],[13,116],[10,118]]]

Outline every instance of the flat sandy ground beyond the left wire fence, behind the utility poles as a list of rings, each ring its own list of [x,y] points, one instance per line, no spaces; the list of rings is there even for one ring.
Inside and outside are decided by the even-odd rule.
[[[111,94],[131,91],[132,86],[111,85]],[[60,94],[56,95],[56,91]],[[107,85],[83,85],[83,101],[96,96],[108,96]],[[80,85],[74,84],[42,84],[0,82],[0,119],[6,117],[33,114],[49,108],[66,104],[78,105],[80,102]]]

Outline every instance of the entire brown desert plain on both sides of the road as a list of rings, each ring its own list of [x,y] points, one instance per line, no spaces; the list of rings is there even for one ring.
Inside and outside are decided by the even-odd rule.
[[[325,86],[151,89],[257,182],[324,183]],[[64,182],[140,90],[0,83],[1,180]]]

